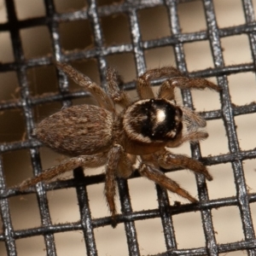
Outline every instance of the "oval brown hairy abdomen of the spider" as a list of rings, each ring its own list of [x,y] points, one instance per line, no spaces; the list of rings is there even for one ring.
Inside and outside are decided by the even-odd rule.
[[[46,146],[73,156],[106,150],[112,134],[112,113],[93,105],[63,109],[44,119],[35,129],[35,136]]]

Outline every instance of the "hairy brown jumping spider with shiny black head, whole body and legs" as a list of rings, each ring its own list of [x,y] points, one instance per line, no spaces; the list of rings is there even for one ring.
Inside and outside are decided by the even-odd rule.
[[[116,177],[130,177],[138,157],[138,172],[143,177],[148,177],[162,188],[196,202],[189,192],[160,172],[160,167],[182,167],[212,180],[206,166],[201,162],[183,154],[172,154],[167,148],[176,148],[185,142],[195,143],[208,136],[203,129],[207,123],[199,113],[177,106],[174,98],[175,87],[219,90],[216,84],[206,79],[184,77],[175,67],[155,68],[137,79],[139,100],[132,102],[125,91],[119,90],[117,74],[113,68],[108,68],[106,93],[73,67],[61,63],[57,63],[57,67],[90,91],[99,106],[79,105],[65,108],[37,126],[35,136],[39,141],[61,154],[73,157],[45,170],[38,177],[24,181],[19,189],[27,189],[79,166],[106,165],[104,193],[114,226],[117,214],[114,202]],[[150,80],[161,77],[166,77],[166,80],[161,84],[157,96],[154,96]],[[118,112],[116,104],[123,110]]]

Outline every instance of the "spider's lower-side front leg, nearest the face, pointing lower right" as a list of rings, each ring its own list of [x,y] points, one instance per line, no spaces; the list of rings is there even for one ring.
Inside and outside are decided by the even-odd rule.
[[[166,149],[155,154],[157,155],[159,166],[165,169],[182,167],[184,169],[189,169],[193,172],[203,174],[209,181],[212,180],[212,175],[207,171],[207,167],[198,160],[194,160],[183,154],[172,154]]]

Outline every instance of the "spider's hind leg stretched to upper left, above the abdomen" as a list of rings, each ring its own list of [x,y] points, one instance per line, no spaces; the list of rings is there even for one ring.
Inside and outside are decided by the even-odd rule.
[[[76,84],[84,87],[86,90],[94,96],[99,106],[102,108],[107,108],[110,111],[113,111],[113,102],[109,98],[108,94],[102,90],[102,88],[90,80],[83,73],[80,73],[78,70],[74,69],[72,66],[67,65],[66,63],[56,62],[56,66],[64,73],[73,79]]]

